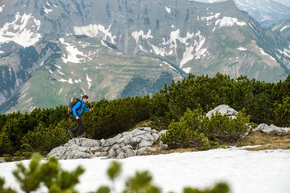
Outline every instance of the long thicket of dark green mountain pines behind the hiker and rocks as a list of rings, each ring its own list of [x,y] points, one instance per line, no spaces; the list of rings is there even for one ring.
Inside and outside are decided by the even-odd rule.
[[[151,119],[151,126],[156,130],[167,129],[172,120],[175,123],[180,122],[188,108],[194,111],[200,105],[204,112],[208,112],[218,105],[227,104],[236,111],[244,109],[243,112],[250,116],[250,121],[256,124],[289,127],[289,97],[290,75],[284,81],[267,83],[249,80],[246,76],[233,79],[220,73],[215,77],[189,74],[188,78],[181,81],[172,80],[170,86],[165,84],[164,89],[153,97],[146,95],[114,100],[102,99],[87,103],[86,107],[93,107],[94,112],[83,112],[82,119],[86,137],[100,140],[127,131],[136,123],[148,119]],[[66,143],[69,139],[67,133],[58,141],[56,136],[76,126],[73,119],[67,115],[67,111],[68,106],[60,105],[55,108],[36,108],[30,114],[0,114],[0,156],[13,156],[17,152],[17,155],[27,157],[35,151],[44,154]],[[223,118],[218,117],[216,123],[214,119],[203,120],[204,127],[208,125],[208,128],[212,128],[221,119]],[[74,124],[68,124],[72,122]],[[237,123],[224,120],[223,124],[234,127]],[[174,124],[171,124],[171,128],[172,125]],[[183,132],[181,131],[184,135]],[[216,146],[212,143],[234,143],[237,140],[234,135],[238,135],[239,130],[233,131],[233,135],[229,136],[224,136],[223,132],[231,131],[220,130],[215,131],[215,134],[212,131],[196,132],[195,135],[198,141],[204,141],[201,144],[205,149]],[[183,135],[180,137],[187,137]]]

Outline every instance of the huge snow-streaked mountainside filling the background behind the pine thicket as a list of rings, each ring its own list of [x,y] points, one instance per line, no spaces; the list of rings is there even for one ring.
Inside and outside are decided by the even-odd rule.
[[[189,72],[265,81],[290,72],[288,42],[233,1],[3,0],[0,7],[5,112],[66,104],[79,93],[150,94]]]

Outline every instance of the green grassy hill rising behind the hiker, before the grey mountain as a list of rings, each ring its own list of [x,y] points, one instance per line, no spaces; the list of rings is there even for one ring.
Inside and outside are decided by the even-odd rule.
[[[179,73],[158,59],[120,53],[104,46],[100,39],[76,39],[74,36],[69,36],[65,38],[65,42],[75,44],[77,50],[86,56],[96,51],[97,53],[86,57],[80,61],[81,63],[64,63],[62,58],[67,58],[68,51],[66,45],[60,44],[62,58],[56,59],[55,65],[61,68],[54,66],[53,73],[49,72],[49,69],[53,70],[49,65],[36,70],[22,86],[18,103],[6,113],[18,111],[18,109],[21,112],[31,111],[35,106],[65,105],[71,97],[80,97],[84,93],[89,95],[91,101],[118,98],[128,82],[135,76],[155,81],[162,72],[170,72],[174,79],[181,78]],[[84,44],[98,47],[82,46]],[[83,56],[77,55],[77,58],[83,58]],[[87,76],[92,79],[90,88]],[[73,84],[68,81],[57,81],[70,78]],[[75,82],[79,79],[80,82]]]

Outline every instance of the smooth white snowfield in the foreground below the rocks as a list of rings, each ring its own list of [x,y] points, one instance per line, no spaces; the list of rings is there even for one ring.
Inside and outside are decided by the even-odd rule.
[[[60,160],[62,169],[73,170],[81,165],[85,173],[76,186],[79,192],[95,191],[100,185],[111,185],[106,170],[112,159]],[[290,192],[290,150],[247,151],[241,148],[215,149],[200,152],[136,156],[118,160],[122,175],[116,181],[121,192],[125,179],[136,171],[150,171],[155,185],[163,192],[182,192],[183,187],[212,187],[227,182],[231,192]],[[21,161],[27,165],[30,161]],[[17,188],[12,175],[17,162],[0,163],[0,176],[6,186]],[[39,190],[38,192],[40,192]],[[42,192],[45,189],[42,189]]]

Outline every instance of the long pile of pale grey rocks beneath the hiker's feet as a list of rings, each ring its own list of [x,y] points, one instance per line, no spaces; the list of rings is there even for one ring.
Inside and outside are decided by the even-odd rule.
[[[166,130],[160,132],[164,133]],[[64,146],[54,148],[47,155],[60,159],[79,159],[106,157],[122,159],[136,155],[148,155],[148,151],[157,151],[151,146],[160,141],[161,134],[157,134],[151,127],[139,127],[130,132],[123,132],[108,140],[90,140],[74,138]],[[162,146],[163,148],[166,146]]]

